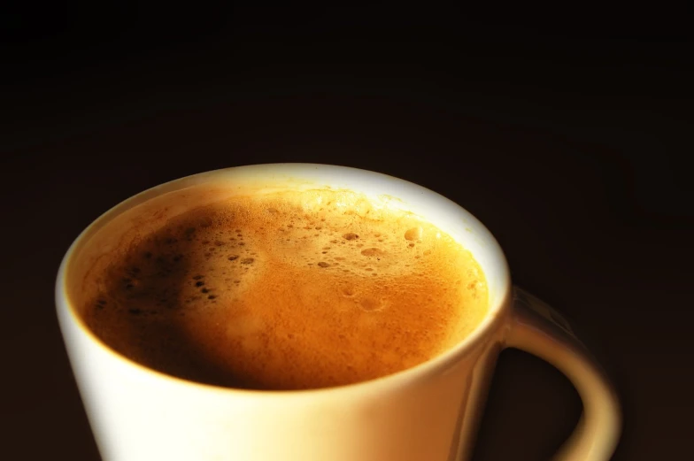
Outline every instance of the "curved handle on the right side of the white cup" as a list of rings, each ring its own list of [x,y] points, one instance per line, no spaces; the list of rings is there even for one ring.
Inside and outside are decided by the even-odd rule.
[[[511,328],[505,347],[540,357],[564,373],[581,396],[583,412],[554,461],[609,460],[621,434],[621,407],[598,361],[557,311],[514,287]]]

